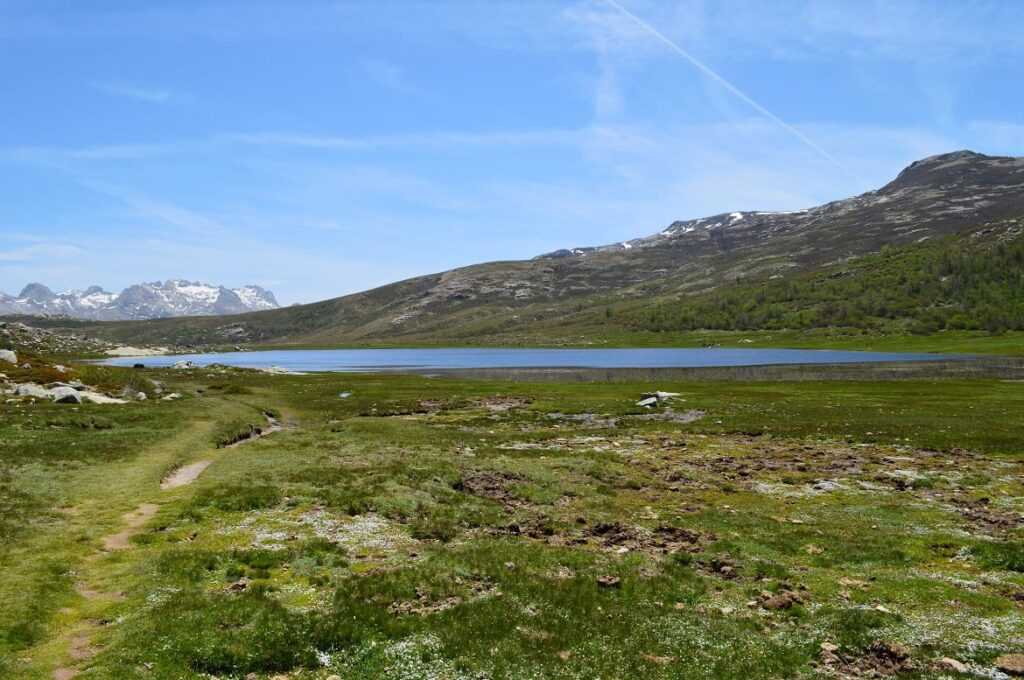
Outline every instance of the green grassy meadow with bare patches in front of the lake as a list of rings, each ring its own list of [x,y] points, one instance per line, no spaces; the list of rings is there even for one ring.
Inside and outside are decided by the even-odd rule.
[[[1024,649],[1021,383],[139,373],[184,397],[0,405],[0,677],[998,677]]]

